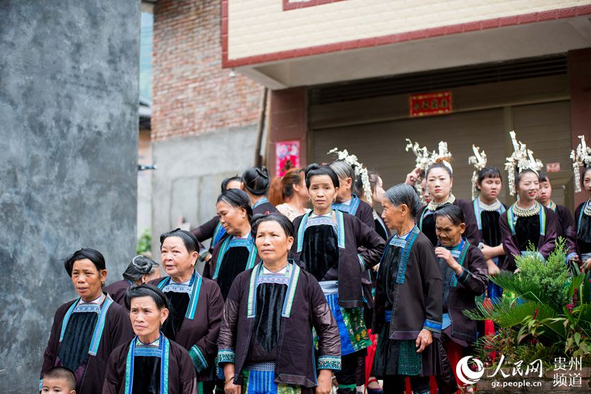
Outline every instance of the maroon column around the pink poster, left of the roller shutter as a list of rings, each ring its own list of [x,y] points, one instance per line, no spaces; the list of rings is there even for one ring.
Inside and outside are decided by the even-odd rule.
[[[306,88],[289,88],[270,92],[267,163],[275,174],[275,144],[279,141],[300,141],[300,167],[307,165]]]

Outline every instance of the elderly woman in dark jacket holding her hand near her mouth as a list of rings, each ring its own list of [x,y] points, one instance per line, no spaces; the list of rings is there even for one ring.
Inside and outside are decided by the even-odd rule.
[[[462,235],[466,229],[464,213],[458,206],[447,205],[435,211],[435,229],[439,246],[435,255],[442,271],[442,342],[450,359],[447,376],[437,377],[444,386],[454,378],[453,371],[463,356],[469,355],[469,345],[476,342],[476,321],[464,311],[476,308],[475,297],[485,292],[488,284],[483,253],[470,245]]]

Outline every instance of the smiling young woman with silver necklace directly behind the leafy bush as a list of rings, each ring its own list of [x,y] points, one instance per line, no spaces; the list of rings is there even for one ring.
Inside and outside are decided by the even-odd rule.
[[[531,169],[522,170],[515,178],[515,185],[519,199],[499,220],[505,249],[504,270],[515,270],[515,256],[529,254],[530,245],[537,248],[536,253],[543,260],[556,244],[556,215],[535,201],[540,189],[537,173]]]

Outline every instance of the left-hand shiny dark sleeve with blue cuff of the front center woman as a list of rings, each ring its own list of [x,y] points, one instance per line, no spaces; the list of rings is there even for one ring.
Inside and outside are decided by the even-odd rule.
[[[246,271],[250,272],[250,270]],[[236,330],[238,329],[238,313],[242,297],[242,276],[238,275],[228,293],[224,305],[220,336],[218,337],[219,363],[234,363],[236,361]]]

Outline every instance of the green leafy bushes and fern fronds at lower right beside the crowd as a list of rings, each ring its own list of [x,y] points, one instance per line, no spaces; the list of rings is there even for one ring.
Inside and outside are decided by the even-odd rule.
[[[479,358],[501,352],[515,361],[582,357],[591,364],[590,275],[577,274],[565,260],[565,241],[560,239],[546,261],[539,254],[517,256],[517,272],[489,278],[503,288],[503,298],[464,311],[473,320],[492,320],[498,328],[478,340]]]

